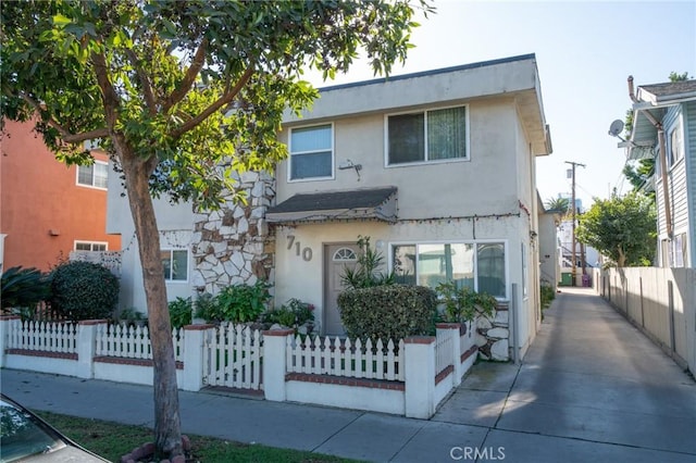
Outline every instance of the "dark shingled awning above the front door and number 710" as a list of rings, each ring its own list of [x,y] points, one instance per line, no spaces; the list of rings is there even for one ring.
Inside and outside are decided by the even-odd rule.
[[[374,220],[396,221],[396,187],[300,193],[269,208],[271,224]]]

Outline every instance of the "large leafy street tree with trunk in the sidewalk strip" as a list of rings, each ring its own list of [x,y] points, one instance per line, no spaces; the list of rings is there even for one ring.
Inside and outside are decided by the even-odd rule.
[[[316,98],[307,67],[333,77],[364,50],[375,73],[403,61],[426,0],[5,1],[0,114],[32,121],[57,158],[122,172],[138,238],[152,361],[158,456],[181,455],[176,367],[150,195],[201,208],[234,173],[272,170],[286,110]],[[1,122],[0,122],[1,123]]]

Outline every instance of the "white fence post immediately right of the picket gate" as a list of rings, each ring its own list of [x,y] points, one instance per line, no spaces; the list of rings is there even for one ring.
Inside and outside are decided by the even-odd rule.
[[[266,400],[284,402],[285,375],[287,373],[287,339],[293,329],[269,329],[263,331],[263,392]]]

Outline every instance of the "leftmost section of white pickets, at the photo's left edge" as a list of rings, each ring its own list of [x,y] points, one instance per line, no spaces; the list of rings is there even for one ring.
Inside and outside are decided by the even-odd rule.
[[[21,322],[10,325],[8,349],[77,353],[77,325],[73,323]]]

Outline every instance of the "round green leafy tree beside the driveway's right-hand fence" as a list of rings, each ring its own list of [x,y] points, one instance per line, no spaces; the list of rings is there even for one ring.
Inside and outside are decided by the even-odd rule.
[[[657,239],[655,202],[638,193],[595,199],[580,216],[577,240],[607,255],[618,266],[650,265]]]

